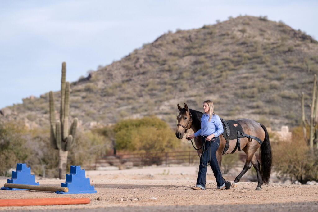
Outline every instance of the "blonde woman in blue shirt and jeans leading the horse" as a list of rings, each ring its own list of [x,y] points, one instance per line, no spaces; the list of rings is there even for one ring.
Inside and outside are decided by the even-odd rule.
[[[192,187],[193,190],[204,190],[206,183],[206,166],[210,161],[209,156],[211,155],[210,166],[213,170],[215,179],[217,180],[218,190],[225,189],[225,182],[223,180],[220,168],[218,167],[218,161],[215,155],[215,152],[218,150],[220,146],[219,135],[223,133],[223,125],[220,117],[217,114],[213,113],[213,102],[211,100],[206,100],[203,103],[203,111],[204,114],[201,118],[201,129],[196,133],[189,135],[187,138],[192,139],[201,135],[202,137],[202,145],[205,142],[205,148],[202,150],[204,153],[201,154],[200,157],[200,166],[199,166],[199,174],[197,178],[197,185]],[[210,140],[211,140],[211,148],[210,148]],[[211,149],[211,154],[210,154]],[[203,165],[202,165],[203,163]],[[227,182],[229,185],[226,188],[230,188],[231,182]]]

